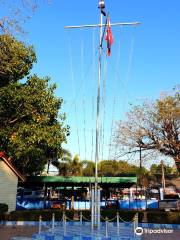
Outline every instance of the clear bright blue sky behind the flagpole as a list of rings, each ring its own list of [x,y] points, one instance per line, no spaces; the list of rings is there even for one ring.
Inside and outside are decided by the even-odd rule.
[[[51,76],[65,101],[71,136],[64,147],[81,159],[94,159],[98,29],[65,30],[66,25],[99,23],[98,1],[59,1],[40,6],[25,24],[38,63],[33,72]],[[106,0],[111,22],[139,21],[138,27],[113,27],[111,57],[103,48],[100,157],[109,147],[112,123],[131,104],[156,99],[177,85],[180,76],[180,1]],[[79,138],[79,144],[78,144]],[[110,155],[109,155],[110,152]]]

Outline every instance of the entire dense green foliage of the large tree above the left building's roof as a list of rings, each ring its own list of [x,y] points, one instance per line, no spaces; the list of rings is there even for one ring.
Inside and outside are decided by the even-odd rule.
[[[4,73],[0,75],[0,150],[22,173],[39,174],[49,159],[61,156],[61,145],[69,134],[65,115],[59,114],[63,99],[54,96],[56,86],[49,78],[33,75],[19,82],[29,73],[36,55],[32,47],[10,36],[0,41],[6,45],[7,59],[14,58],[9,63],[2,58],[0,63]]]

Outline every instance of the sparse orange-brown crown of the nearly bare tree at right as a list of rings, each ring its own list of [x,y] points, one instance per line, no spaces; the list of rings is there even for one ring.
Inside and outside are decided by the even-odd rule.
[[[121,153],[158,151],[174,159],[180,171],[180,94],[175,88],[151,103],[135,106],[119,121],[115,142]]]

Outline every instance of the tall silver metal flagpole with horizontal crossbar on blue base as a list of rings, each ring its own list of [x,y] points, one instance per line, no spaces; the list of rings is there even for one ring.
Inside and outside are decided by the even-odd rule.
[[[95,182],[94,182],[94,204],[91,211],[94,216],[93,224],[94,228],[99,228],[100,223],[100,190],[98,187],[98,162],[99,162],[99,126],[100,126],[100,87],[101,87],[101,57],[102,57],[102,47],[103,47],[103,27],[106,27],[106,24],[103,23],[103,17],[105,17],[105,3],[104,0],[99,0],[98,5],[100,11],[100,23],[99,24],[88,24],[88,25],[79,25],[79,26],[65,26],[65,29],[77,29],[77,28],[95,28],[99,27],[99,57],[98,57],[98,86],[97,86],[97,113],[96,113],[96,146],[95,146]],[[139,25],[139,22],[131,23],[112,23],[111,26],[135,26]]]

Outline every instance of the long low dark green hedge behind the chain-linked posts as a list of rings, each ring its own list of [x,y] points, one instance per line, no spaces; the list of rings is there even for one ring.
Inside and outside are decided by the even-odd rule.
[[[91,219],[91,211],[73,211],[66,210],[65,214],[67,216],[67,220],[77,218],[80,216],[80,212],[83,215],[83,221],[87,221]],[[164,211],[136,211],[136,210],[120,210],[119,216],[126,222],[132,221],[135,214],[138,212],[138,220],[139,222],[143,222],[146,220],[148,223],[159,223],[159,224],[180,224],[180,211],[175,212],[164,212]],[[63,211],[59,209],[53,210],[21,210],[14,211],[9,214],[0,214],[0,220],[4,221],[38,221],[39,216],[42,216],[42,221],[51,221],[52,214],[55,214],[55,221],[60,221],[63,216]],[[101,221],[105,221],[106,217],[108,220],[114,219],[116,221],[117,211],[107,209],[101,211],[102,219]]]

